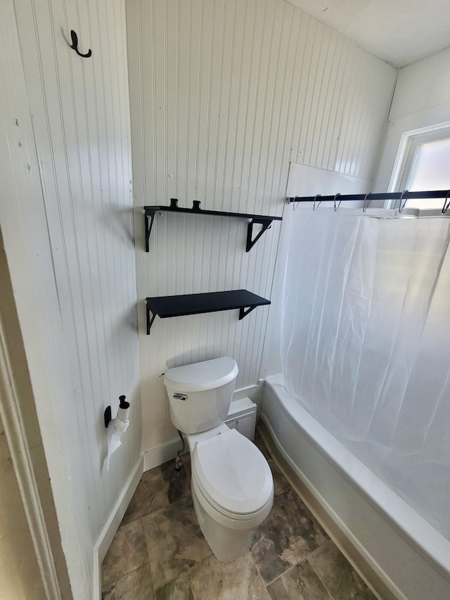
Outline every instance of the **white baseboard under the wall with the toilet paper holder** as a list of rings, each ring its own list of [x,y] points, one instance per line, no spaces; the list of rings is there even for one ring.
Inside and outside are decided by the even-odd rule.
[[[143,464],[143,457],[139,457],[94,547],[94,599],[101,598],[101,563],[103,563],[103,558],[105,558],[108,548],[113,542],[113,537],[119,528],[136,487],[138,487],[139,480],[141,480]]]

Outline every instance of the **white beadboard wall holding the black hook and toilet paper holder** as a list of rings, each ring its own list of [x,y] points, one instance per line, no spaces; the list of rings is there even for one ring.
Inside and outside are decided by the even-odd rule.
[[[140,461],[129,95],[122,0],[2,4],[0,226],[61,542],[91,598],[102,528]],[[68,46],[79,34],[79,58]],[[102,473],[103,410],[131,426]]]

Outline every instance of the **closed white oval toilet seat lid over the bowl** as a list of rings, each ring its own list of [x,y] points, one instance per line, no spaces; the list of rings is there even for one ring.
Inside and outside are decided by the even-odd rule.
[[[224,516],[257,517],[272,501],[274,483],[262,452],[235,429],[195,445],[193,477],[203,497]]]

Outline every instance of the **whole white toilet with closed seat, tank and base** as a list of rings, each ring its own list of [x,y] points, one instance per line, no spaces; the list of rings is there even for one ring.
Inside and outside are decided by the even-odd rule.
[[[224,420],[238,365],[217,358],[167,369],[170,419],[186,435],[191,490],[203,535],[219,561],[245,554],[274,502],[274,480],[262,452]]]

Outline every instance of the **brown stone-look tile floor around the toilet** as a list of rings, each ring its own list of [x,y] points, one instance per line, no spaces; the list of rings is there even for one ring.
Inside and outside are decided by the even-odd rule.
[[[245,556],[220,563],[193,509],[189,455],[142,475],[102,566],[103,600],[373,600],[269,456],[274,507]]]

